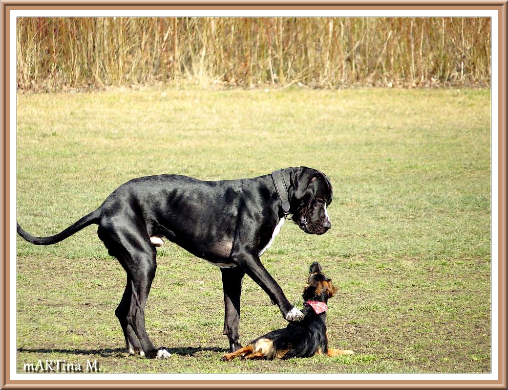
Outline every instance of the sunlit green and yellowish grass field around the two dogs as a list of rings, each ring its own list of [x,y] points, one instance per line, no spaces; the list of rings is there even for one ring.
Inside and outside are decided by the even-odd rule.
[[[49,235],[119,184],[179,173],[233,179],[307,165],[334,187],[333,227],[285,224],[262,261],[302,305],[310,263],[340,292],[332,348],[352,356],[220,360],[220,272],[158,249],[147,330],[172,357],[128,356],[114,316],[125,276],[87,228],[60,244],[17,241],[17,367],[97,359],[107,373],[487,373],[490,323],[490,91],[115,90],[19,94],[17,219]],[[244,280],[242,343],[285,326]]]

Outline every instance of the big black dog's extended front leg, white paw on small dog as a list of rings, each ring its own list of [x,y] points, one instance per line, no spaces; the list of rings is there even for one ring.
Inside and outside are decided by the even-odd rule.
[[[282,289],[268,273],[257,254],[250,253],[248,250],[239,250],[238,252],[232,253],[231,256],[245,273],[261,286],[272,302],[278,305],[282,317],[284,317],[286,321],[303,320],[303,313],[295,308],[288,298],[285,297]]]

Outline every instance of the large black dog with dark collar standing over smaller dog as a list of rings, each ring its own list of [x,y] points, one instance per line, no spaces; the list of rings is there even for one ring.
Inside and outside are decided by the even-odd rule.
[[[259,257],[290,214],[304,232],[325,233],[331,227],[326,210],[331,201],[332,186],[327,176],[304,166],[228,181],[158,175],[122,184],[97,210],[54,236],[32,236],[19,224],[17,231],[29,242],[49,245],[86,226],[99,225],[99,238],[127,273],[115,314],[128,351],[165,358],[169,352],[157,350],[146,333],[144,314],[160,237],[220,267],[225,303],[223,334],[229,338],[230,350],[235,351],[241,348],[238,323],[245,273],[278,305],[287,321],[303,319]]]

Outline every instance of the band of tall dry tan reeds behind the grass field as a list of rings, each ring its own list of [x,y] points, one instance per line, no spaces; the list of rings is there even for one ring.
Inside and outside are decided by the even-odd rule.
[[[251,87],[490,84],[490,18],[42,18],[17,22],[20,89],[193,79]]]

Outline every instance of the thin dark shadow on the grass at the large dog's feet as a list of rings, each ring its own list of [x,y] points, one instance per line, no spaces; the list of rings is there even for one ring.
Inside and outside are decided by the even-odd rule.
[[[227,353],[228,350],[217,347],[177,347],[166,348],[172,355],[194,356],[202,352],[220,352]],[[67,353],[69,355],[101,355],[101,356],[123,356],[127,354],[125,348],[106,348],[106,349],[55,349],[55,348],[18,348],[18,352],[28,353]]]

